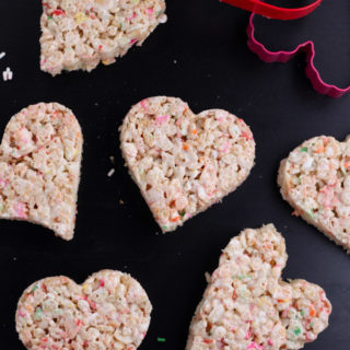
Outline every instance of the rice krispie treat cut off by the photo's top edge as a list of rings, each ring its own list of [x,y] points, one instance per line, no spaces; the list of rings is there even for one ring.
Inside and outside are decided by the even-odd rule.
[[[43,10],[40,67],[54,77],[110,65],[166,22],[164,0],[45,0]]]

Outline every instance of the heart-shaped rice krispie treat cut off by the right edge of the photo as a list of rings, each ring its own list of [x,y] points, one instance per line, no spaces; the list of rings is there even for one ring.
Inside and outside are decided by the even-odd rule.
[[[305,141],[281,162],[278,184],[296,215],[350,253],[350,140]]]

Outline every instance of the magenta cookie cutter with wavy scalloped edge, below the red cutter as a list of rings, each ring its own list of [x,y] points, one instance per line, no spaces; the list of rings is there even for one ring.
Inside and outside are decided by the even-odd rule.
[[[336,85],[327,84],[319,75],[317,68],[314,65],[315,58],[315,44],[312,40],[307,40],[296,46],[295,49],[291,51],[270,51],[267,47],[258,42],[255,38],[255,26],[254,26],[254,16],[253,13],[249,18],[249,23],[247,26],[247,35],[248,35],[248,48],[256,54],[262,61],[265,62],[282,62],[285,63],[291,60],[293,57],[301,52],[306,54],[306,68],[305,73],[310,79],[314,89],[324,95],[328,95],[334,98],[341,97],[346,93],[350,92],[350,85],[348,88],[341,89]]]

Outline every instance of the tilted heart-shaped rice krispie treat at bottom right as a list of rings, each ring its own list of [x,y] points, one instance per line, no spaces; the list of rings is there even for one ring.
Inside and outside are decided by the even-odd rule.
[[[318,285],[283,282],[288,256],[272,224],[231,240],[192,318],[186,350],[301,349],[328,326]]]

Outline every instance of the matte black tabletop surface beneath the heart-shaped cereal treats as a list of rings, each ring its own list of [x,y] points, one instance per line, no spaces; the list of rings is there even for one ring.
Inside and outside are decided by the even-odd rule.
[[[14,71],[13,81],[0,81],[0,130],[37,102],[59,102],[75,113],[85,140],[79,214],[69,243],[37,225],[0,221],[0,349],[24,349],[14,312],[28,284],[57,275],[82,282],[104,268],[131,273],[152,301],[152,323],[140,349],[184,349],[205,272],[217,267],[220,249],[244,228],[273,222],[287,240],[283,277],[320,284],[334,305],[329,328],[306,349],[348,350],[350,259],[291,215],[276,177],[280,160],[303,140],[318,135],[345,139],[350,95],[332,100],[315,93],[304,74],[304,57],[287,65],[261,62],[246,46],[248,14],[217,0],[167,0],[168,23],[142,48],[90,74],[52,79],[38,67],[40,7],[33,0],[0,1],[0,51],[7,51],[0,71]],[[293,23],[259,19],[257,36],[271,48],[313,38],[322,75],[345,86],[350,82],[349,10],[348,0],[325,0],[314,14]],[[160,230],[124,167],[117,131],[130,106],[153,95],[182,97],[196,113],[214,107],[235,113],[257,142],[256,166],[244,185],[166,235],[155,235]],[[116,158],[110,178],[109,155]]]

